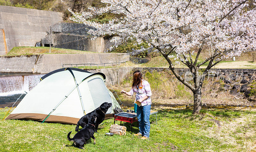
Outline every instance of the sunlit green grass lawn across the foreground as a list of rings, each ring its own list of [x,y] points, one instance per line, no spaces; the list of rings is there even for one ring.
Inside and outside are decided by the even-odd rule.
[[[75,125],[37,121],[4,120],[8,108],[0,109],[0,151],[247,151],[255,144],[255,110],[210,108],[192,115],[192,107],[162,107],[157,125],[150,117],[149,140],[131,134],[125,123],[124,136],[104,136],[114,119],[103,121],[95,133],[96,145],[89,140],[84,150],[74,147],[67,134],[75,135]],[[120,124],[120,122],[117,122]],[[135,126],[135,124],[134,124]],[[134,127],[133,130],[136,128]],[[255,147],[254,147],[255,150]]]

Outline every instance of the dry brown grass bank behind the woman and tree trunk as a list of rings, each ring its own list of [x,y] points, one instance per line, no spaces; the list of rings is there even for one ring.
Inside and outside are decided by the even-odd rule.
[[[151,86],[152,91],[152,103],[158,104],[179,104],[179,105],[193,105],[194,97],[192,91],[184,86],[173,74],[167,72],[160,73],[143,73],[143,79],[147,80]],[[130,91],[132,84],[132,74],[129,74],[120,86],[113,86],[115,90]],[[219,81],[219,83],[214,83]],[[240,79],[237,80],[238,83]],[[216,106],[220,104],[224,105],[255,105],[254,102],[250,102],[244,99],[242,95],[234,96],[228,91],[220,91],[219,87],[224,82],[219,79],[206,79],[202,87],[202,104],[207,106]],[[231,88],[231,86],[230,86]],[[132,97],[124,94],[120,94],[120,97],[124,101],[130,101],[132,103]]]

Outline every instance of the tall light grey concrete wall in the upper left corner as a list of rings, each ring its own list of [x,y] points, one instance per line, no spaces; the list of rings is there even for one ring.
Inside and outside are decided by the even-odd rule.
[[[45,37],[46,27],[63,21],[63,13],[0,6],[0,29],[4,29],[7,51],[14,46],[35,46]],[[3,32],[0,30],[0,55],[4,55]]]

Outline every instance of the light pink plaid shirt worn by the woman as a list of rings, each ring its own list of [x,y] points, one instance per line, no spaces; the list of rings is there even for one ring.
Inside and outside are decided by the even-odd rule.
[[[141,85],[140,85],[141,87]],[[148,99],[144,100],[141,102],[141,106],[146,106],[146,105],[151,105],[151,98],[150,96],[152,95],[150,85],[148,81],[142,79],[142,88],[137,89],[137,88],[132,88],[131,91],[129,92],[131,94],[136,93],[136,100],[142,99],[145,96],[148,96]]]

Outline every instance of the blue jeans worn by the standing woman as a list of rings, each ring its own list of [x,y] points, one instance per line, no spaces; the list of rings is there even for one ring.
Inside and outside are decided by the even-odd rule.
[[[147,106],[137,105],[139,133],[146,137],[149,137],[149,132],[150,132],[150,122],[149,122],[150,108],[151,108],[151,105],[147,105]]]

